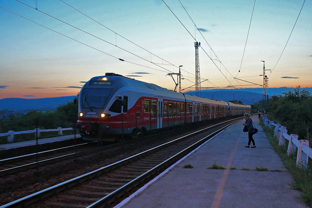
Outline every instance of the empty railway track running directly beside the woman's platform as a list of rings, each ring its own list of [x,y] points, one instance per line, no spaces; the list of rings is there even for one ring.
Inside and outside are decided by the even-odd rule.
[[[241,119],[196,131],[134,156],[13,201],[4,207],[106,207],[144,180],[167,168],[207,139]],[[230,124],[228,124],[230,122]],[[222,126],[207,135],[207,130]],[[49,197],[50,196],[50,197]],[[48,197],[45,200],[41,200]],[[35,203],[35,204],[33,204]]]

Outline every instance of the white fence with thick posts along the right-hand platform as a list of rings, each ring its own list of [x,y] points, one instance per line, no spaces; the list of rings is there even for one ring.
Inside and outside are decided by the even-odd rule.
[[[286,139],[289,141],[287,154],[294,154],[297,149],[297,167],[307,169],[308,158],[312,158],[312,149],[309,147],[308,140],[298,140],[298,135],[296,134],[287,134],[287,129],[285,126],[282,126],[280,123],[275,124],[273,121],[270,121],[265,116],[262,116],[263,123],[274,129],[274,136],[279,141],[279,145],[285,145]]]

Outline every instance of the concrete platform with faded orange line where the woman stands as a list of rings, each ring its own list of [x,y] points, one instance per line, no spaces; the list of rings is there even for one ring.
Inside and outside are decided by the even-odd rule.
[[[115,207],[308,207],[301,202],[300,191],[291,188],[293,179],[259,119],[252,119],[259,129],[253,136],[256,148],[245,148],[248,134],[242,132],[242,120]],[[207,169],[214,161],[227,169]],[[186,164],[194,168],[183,168]],[[256,166],[269,171],[255,171]]]

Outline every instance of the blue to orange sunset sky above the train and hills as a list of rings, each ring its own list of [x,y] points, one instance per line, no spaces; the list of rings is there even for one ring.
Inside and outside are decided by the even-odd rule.
[[[201,42],[201,80],[208,79],[202,87],[261,87],[233,81],[237,76],[262,85],[263,77],[256,76],[263,74],[261,60],[266,69],[275,67],[271,74],[266,71],[269,87],[312,87],[312,1],[305,2],[290,36],[304,0],[256,0],[254,11],[254,0],[180,0],[214,52],[179,0],[164,2],[189,32],[162,0],[20,1],[0,1],[0,99],[76,95],[86,81],[105,72],[174,89],[166,75],[178,73],[179,65],[184,89],[195,82],[193,37]]]

